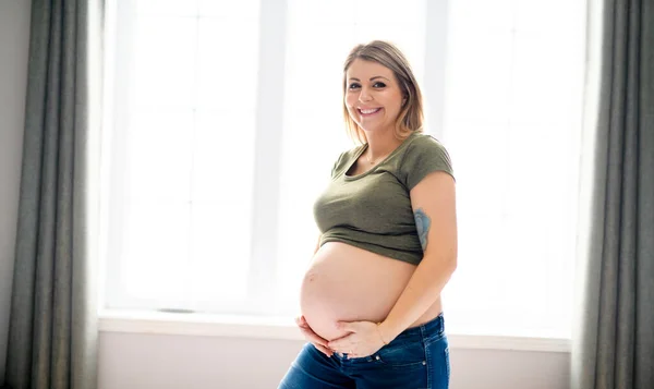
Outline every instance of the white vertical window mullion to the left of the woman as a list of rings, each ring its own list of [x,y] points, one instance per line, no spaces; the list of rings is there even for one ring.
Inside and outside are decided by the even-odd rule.
[[[287,0],[262,0],[259,21],[249,300],[252,309],[266,313],[276,294]]]

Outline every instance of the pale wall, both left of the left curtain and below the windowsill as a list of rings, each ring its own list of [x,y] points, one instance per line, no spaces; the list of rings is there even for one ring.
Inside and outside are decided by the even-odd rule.
[[[0,379],[13,272],[29,1],[0,0]],[[276,388],[301,342],[102,332],[100,389]],[[569,354],[451,350],[452,389],[567,389]],[[0,381],[0,385],[2,382]]]

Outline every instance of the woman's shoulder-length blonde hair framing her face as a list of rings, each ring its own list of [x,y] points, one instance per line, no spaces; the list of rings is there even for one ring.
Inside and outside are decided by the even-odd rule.
[[[350,137],[362,144],[367,142],[365,132],[352,120],[346,105],[346,94],[348,93],[347,73],[356,59],[377,62],[392,71],[402,96],[407,99],[396,121],[396,137],[404,139],[413,132],[422,132],[424,121],[422,93],[409,61],[395,45],[384,40],[373,40],[366,45],[355,46],[348,54],[343,65],[343,118]]]

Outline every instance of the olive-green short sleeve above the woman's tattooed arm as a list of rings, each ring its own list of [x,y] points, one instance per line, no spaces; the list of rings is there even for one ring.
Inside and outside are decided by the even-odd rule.
[[[429,135],[415,138],[409,147],[400,167],[404,185],[411,191],[427,174],[445,171],[455,177],[447,149]]]

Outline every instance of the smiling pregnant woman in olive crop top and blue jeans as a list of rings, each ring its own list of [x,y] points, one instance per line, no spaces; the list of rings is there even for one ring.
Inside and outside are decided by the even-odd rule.
[[[395,46],[350,52],[343,114],[361,145],[315,203],[320,236],[298,319],[310,342],[279,388],[448,388],[440,292],[457,267],[455,179]]]

